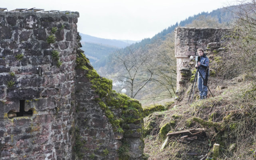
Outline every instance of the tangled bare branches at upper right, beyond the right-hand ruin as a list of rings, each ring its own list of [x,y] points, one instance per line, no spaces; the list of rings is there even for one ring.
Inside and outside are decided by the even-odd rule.
[[[233,78],[241,74],[255,80],[256,70],[256,1],[244,1],[230,10],[234,15],[232,29],[225,43],[228,53],[222,55],[219,75]]]

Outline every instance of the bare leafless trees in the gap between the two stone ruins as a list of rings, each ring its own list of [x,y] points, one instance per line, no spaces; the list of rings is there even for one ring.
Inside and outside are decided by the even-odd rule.
[[[148,45],[147,49],[129,48],[127,53],[119,53],[114,61],[122,83],[121,89],[136,99],[173,97],[176,87],[176,61],[174,57],[174,37],[166,41]]]

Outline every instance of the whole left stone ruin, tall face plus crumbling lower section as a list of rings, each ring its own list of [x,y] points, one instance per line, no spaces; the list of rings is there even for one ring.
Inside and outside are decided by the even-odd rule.
[[[143,118],[127,114],[134,122],[123,124],[125,133],[114,132],[95,101],[99,95],[88,70],[76,68],[78,17],[78,12],[0,12],[1,160],[118,160],[124,141],[129,159],[143,159]],[[56,42],[47,42],[51,35]],[[124,112],[112,108],[116,116]],[[141,105],[137,112],[141,114]]]

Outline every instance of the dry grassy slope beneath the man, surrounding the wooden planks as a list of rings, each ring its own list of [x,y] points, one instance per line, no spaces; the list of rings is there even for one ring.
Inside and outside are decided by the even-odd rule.
[[[187,104],[191,85],[183,95],[183,100],[176,102],[167,111],[155,112],[144,118],[144,127],[149,134],[145,137],[144,152],[150,154],[149,160],[200,160],[212,149],[214,143],[220,144],[219,160],[254,160],[256,149],[256,87],[241,75],[229,81],[210,77],[208,86],[214,98],[199,101],[194,97],[192,104]],[[217,87],[217,86],[223,86]],[[225,88],[226,87],[226,88]],[[196,89],[195,95],[198,95]],[[210,93],[208,94],[210,96]],[[175,115],[175,116],[173,116]],[[178,116],[177,116],[178,115]],[[214,127],[203,126],[194,122],[199,117],[223,124],[226,129],[219,132]],[[173,125],[173,122],[175,124]],[[170,127],[164,134],[159,133],[165,124]],[[206,137],[190,144],[178,142],[177,136],[169,137],[167,147],[161,150],[166,132],[191,128],[206,129]],[[163,129],[161,130],[163,132]],[[231,145],[234,148],[230,148]],[[195,152],[196,156],[189,155]],[[211,156],[209,157],[210,160]]]

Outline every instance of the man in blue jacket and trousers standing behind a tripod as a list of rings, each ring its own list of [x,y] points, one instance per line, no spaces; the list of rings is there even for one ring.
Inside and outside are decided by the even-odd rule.
[[[198,73],[197,86],[199,90],[200,99],[206,99],[208,91],[207,81],[209,75],[209,59],[204,54],[204,50],[202,48],[197,49],[197,52],[198,55],[200,56],[200,62],[198,62],[195,67],[198,67],[198,71],[201,73]]]

